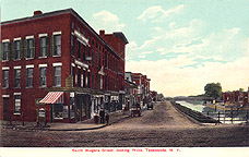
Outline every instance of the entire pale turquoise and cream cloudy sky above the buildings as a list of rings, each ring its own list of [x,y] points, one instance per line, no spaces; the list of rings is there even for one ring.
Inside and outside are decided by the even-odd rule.
[[[122,32],[126,71],[164,96],[249,86],[249,0],[1,0],[1,21],[72,8],[97,33]]]

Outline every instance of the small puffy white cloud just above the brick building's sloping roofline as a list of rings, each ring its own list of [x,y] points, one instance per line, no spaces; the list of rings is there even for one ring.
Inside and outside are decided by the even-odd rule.
[[[119,22],[116,14],[108,11],[100,11],[93,14],[93,27],[98,32],[99,29],[105,29],[106,33],[112,33],[118,31],[123,31],[124,24]]]

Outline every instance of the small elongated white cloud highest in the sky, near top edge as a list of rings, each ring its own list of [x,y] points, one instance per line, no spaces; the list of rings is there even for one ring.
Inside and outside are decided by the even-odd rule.
[[[179,14],[183,8],[183,4],[175,7],[170,10],[164,10],[161,5],[151,7],[143,11],[143,13],[138,17],[138,20],[141,20],[142,22],[151,20],[152,23],[163,22],[173,14]]]

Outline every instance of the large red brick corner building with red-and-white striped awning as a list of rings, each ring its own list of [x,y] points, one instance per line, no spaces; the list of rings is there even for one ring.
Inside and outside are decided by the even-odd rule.
[[[3,120],[90,119],[100,107],[120,109],[124,94],[122,33],[98,35],[74,10],[1,23]]]

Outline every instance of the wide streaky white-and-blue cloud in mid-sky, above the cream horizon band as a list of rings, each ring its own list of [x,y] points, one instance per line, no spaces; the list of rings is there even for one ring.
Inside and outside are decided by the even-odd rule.
[[[157,55],[188,53],[195,58],[221,61],[233,61],[246,56],[247,37],[240,28],[224,28],[209,34],[205,32],[208,26],[203,21],[194,19],[187,26],[180,27],[173,22],[168,27],[153,27],[151,38],[134,49],[138,56],[143,51],[154,51]]]

